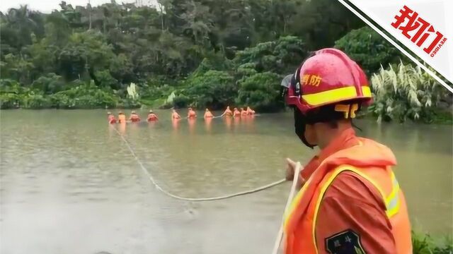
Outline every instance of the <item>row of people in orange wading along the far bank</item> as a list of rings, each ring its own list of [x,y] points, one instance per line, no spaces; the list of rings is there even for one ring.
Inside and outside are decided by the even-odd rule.
[[[224,113],[220,116],[214,116],[209,109],[205,110],[205,115],[203,116],[205,119],[212,119],[214,117],[245,117],[245,116],[253,116],[255,114],[255,111],[251,109],[250,107],[247,107],[247,109],[241,108],[240,110],[238,108],[234,108],[233,111],[228,107],[226,107]],[[126,115],[122,112],[118,112],[117,118],[112,114],[112,112],[107,112],[108,116],[108,123],[127,123],[127,122],[139,122],[142,121],[140,119],[140,116],[137,114],[135,111],[131,111],[131,114],[129,116],[129,119],[126,118]],[[197,113],[190,107],[188,108],[188,114],[185,119],[196,119],[197,118]],[[171,119],[173,120],[178,120],[182,119],[180,114],[176,111],[176,109],[173,109],[173,112],[171,114]],[[152,122],[152,121],[158,121],[159,118],[157,117],[156,113],[154,111],[149,110],[148,116],[147,116],[147,121]]]

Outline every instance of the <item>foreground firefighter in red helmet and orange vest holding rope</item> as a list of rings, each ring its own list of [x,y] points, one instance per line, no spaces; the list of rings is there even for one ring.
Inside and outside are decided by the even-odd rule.
[[[412,253],[395,156],[352,128],[357,111],[372,102],[364,71],[340,50],[321,49],[297,68],[285,97],[297,136],[321,150],[285,212],[285,254]],[[288,159],[287,179],[294,166]]]

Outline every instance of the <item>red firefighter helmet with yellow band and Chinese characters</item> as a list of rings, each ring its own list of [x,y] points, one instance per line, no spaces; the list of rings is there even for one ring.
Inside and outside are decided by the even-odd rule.
[[[369,104],[372,95],[367,76],[355,61],[338,49],[321,49],[297,68],[286,101],[306,114],[338,102]]]

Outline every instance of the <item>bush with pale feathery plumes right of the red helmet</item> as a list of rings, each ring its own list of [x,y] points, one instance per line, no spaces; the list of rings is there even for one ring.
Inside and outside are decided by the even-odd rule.
[[[381,68],[371,78],[374,104],[369,110],[378,121],[433,121],[434,109],[444,88],[420,67],[400,63]]]

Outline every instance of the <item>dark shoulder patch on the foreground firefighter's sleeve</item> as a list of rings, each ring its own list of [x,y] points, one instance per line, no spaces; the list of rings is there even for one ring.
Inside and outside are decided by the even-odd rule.
[[[360,235],[351,229],[325,238],[326,251],[331,254],[365,254]]]

